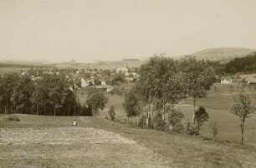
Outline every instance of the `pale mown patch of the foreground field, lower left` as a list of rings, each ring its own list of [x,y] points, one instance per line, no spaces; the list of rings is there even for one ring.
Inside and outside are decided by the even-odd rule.
[[[162,167],[159,156],[119,134],[95,128],[2,129],[3,167]]]

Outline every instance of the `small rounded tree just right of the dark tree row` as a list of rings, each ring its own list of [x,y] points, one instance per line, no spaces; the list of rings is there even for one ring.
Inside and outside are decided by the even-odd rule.
[[[90,106],[94,116],[97,116],[99,110],[105,108],[108,98],[99,89],[91,88],[88,91],[88,96],[86,99],[86,104]]]

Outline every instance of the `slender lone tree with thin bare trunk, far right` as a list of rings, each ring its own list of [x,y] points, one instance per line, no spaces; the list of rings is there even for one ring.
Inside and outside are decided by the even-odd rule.
[[[244,122],[253,113],[252,100],[244,90],[241,90],[238,96],[233,98],[233,106],[230,112],[240,119],[241,144],[243,144]]]

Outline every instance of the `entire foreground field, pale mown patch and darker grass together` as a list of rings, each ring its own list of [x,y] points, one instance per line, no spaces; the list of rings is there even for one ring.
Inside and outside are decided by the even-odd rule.
[[[1,122],[2,167],[255,167],[255,147],[143,130],[96,117]]]

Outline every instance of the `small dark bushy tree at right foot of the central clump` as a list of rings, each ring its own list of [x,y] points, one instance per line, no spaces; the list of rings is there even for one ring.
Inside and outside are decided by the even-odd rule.
[[[195,111],[194,123],[197,127],[197,135],[200,132],[201,126],[204,121],[207,121],[209,118],[207,111],[203,106],[199,106],[197,111]]]

